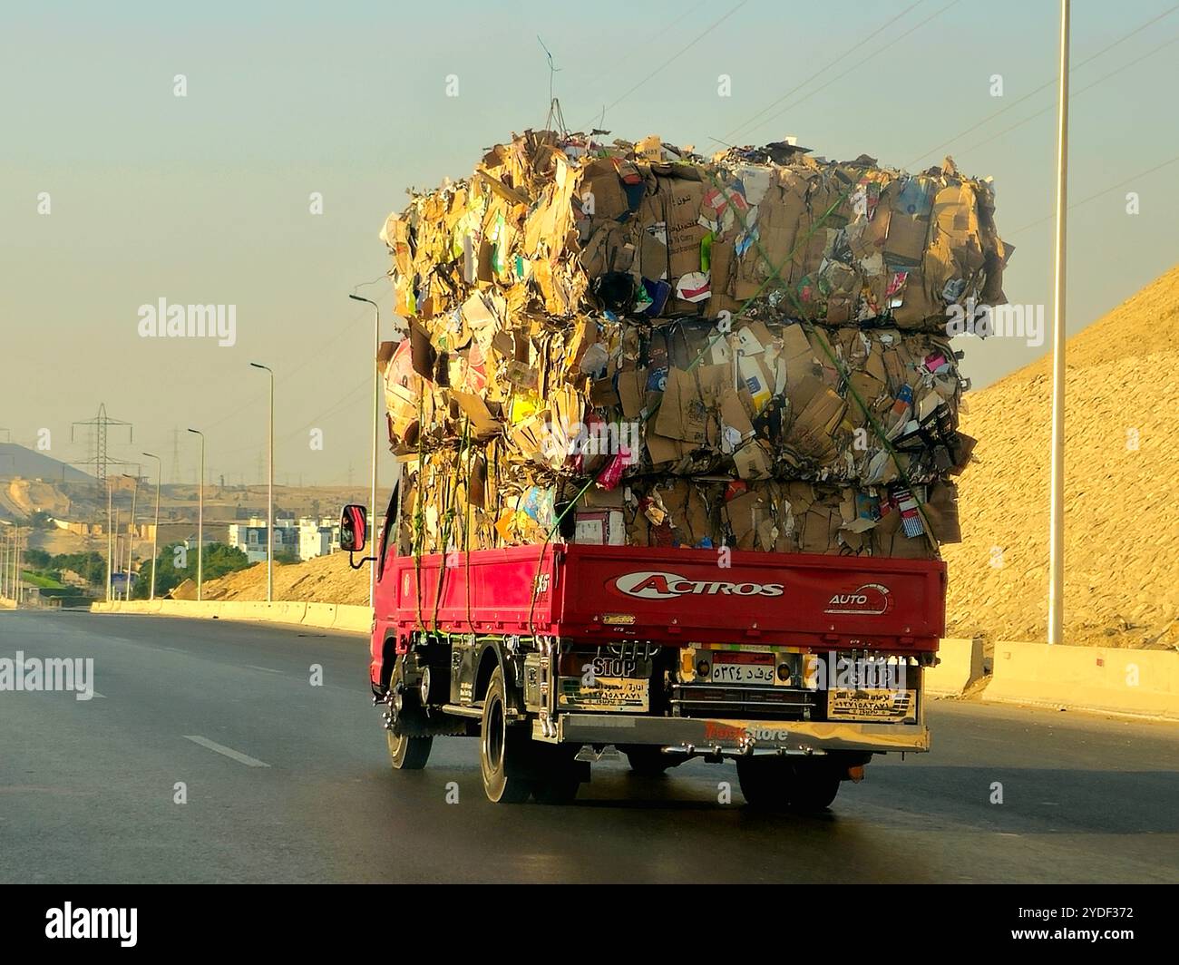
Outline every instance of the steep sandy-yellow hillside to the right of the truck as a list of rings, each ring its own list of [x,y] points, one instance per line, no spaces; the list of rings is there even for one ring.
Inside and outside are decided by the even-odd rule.
[[[1066,642],[1179,643],[1179,267],[1069,339],[1066,367]],[[968,396],[955,636],[1047,632],[1050,392],[1046,356]]]

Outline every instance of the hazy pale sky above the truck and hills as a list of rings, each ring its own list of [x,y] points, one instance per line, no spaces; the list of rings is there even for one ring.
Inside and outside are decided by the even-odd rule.
[[[1073,2],[1071,201],[1117,190],[1071,214],[1069,331],[1177,261],[1179,163],[1142,173],[1179,162],[1177,7]],[[51,455],[84,459],[70,424],[105,402],[134,422],[113,455],[157,452],[170,481],[178,427],[191,480],[193,426],[213,478],[257,481],[261,361],[278,376],[278,480],[342,484],[351,464],[363,481],[371,314],[348,293],[386,271],[377,232],[407,186],[462,177],[483,147],[542,125],[538,34],[574,129],[605,109],[615,136],[703,153],[710,138],[793,134],[832,158],[917,170],[949,152],[994,176],[1017,249],[1007,295],[1050,317],[1056,18],[1048,0],[6,4],[0,426],[27,446],[48,428]],[[391,309],[386,281],[361,294]],[[137,310],[160,297],[235,304],[236,344],[140,337]],[[1047,348],[961,344],[976,387]]]

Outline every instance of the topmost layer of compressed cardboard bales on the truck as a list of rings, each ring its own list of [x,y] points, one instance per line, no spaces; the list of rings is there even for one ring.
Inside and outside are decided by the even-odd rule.
[[[473,291],[511,314],[648,319],[758,310],[823,324],[944,330],[947,308],[1003,303],[1012,248],[988,182],[775,144],[705,159],[648,137],[528,131],[473,177],[388,218],[396,310],[447,317]]]

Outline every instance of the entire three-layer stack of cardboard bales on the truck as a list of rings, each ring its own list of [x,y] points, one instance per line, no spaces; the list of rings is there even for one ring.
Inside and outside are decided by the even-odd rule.
[[[1000,304],[988,182],[789,144],[526,131],[381,232],[407,553],[541,544],[934,558],[960,353]]]

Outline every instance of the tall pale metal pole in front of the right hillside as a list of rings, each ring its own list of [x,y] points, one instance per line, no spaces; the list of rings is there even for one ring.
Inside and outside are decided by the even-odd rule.
[[[1065,635],[1065,268],[1068,216],[1068,2],[1060,0],[1056,131],[1056,267],[1052,316],[1052,495],[1048,524],[1048,643]]]

